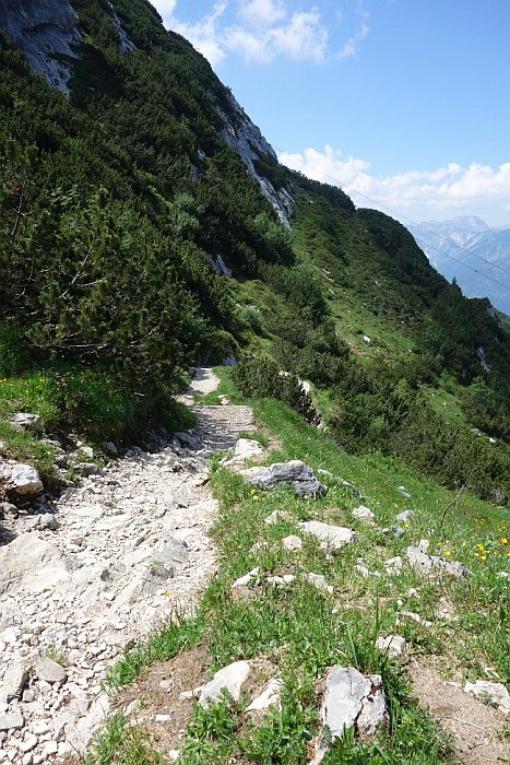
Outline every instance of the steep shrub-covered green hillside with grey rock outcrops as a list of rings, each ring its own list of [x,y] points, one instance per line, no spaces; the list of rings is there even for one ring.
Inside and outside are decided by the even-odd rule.
[[[488,436],[509,438],[510,341],[489,305],[392,219],[281,167],[144,0],[0,13],[4,415],[132,437],[175,423],[190,362],[269,360],[315,386],[342,446],[507,498]],[[35,449],[1,428],[9,454]]]

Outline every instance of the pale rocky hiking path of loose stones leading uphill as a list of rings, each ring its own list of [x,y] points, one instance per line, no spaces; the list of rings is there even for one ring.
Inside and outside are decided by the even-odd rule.
[[[4,522],[0,546],[0,762],[82,753],[108,710],[100,688],[124,648],[197,604],[215,568],[207,460],[250,431],[248,407],[202,407],[198,369],[181,399],[198,422],[132,448],[79,487]]]

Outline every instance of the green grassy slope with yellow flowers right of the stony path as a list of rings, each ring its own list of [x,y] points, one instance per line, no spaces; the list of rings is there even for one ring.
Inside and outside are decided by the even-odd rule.
[[[228,370],[218,372],[220,392],[235,399]],[[331,475],[321,476],[329,486],[328,495],[303,501],[290,490],[254,492],[239,476],[213,468],[212,485],[221,501],[214,531],[220,570],[204,596],[202,610],[195,620],[169,625],[150,644],[128,655],[114,669],[110,681],[114,686],[129,683],[147,664],[169,659],[199,642],[211,654],[212,670],[238,659],[265,657],[285,682],[282,711],[273,710],[257,727],[246,719],[241,704],[230,708],[227,703],[214,705],[209,711],[197,708],[179,762],[299,765],[307,762],[308,743],[318,731],[318,679],[333,663],[354,664],[364,672],[382,674],[390,703],[390,731],[365,744],[347,737],[344,743],[336,743],[325,763],[454,762],[447,738],[408,695],[405,662],[390,660],[375,649],[375,640],[398,632],[414,658],[434,661],[443,678],[484,678],[484,668],[489,666],[494,676],[508,682],[507,582],[496,576],[508,566],[508,517],[502,508],[469,494],[455,497],[394,460],[378,455],[352,457],[274,400],[250,403],[259,425],[278,439],[268,462],[300,458],[316,470],[330,471]],[[415,516],[406,525],[405,537],[381,536],[376,527],[353,519],[352,510],[360,501],[342,485],[343,480],[364,494],[363,503],[373,510],[381,527],[412,507]],[[401,485],[411,499],[399,491]],[[451,503],[441,528],[441,516]],[[285,509],[293,520],[268,526],[264,518],[275,509]],[[298,553],[283,550],[281,540],[296,533],[294,522],[312,518],[353,528],[355,544],[333,560],[306,538]],[[401,576],[386,575],[383,561],[402,555],[405,546],[424,537],[429,539],[432,553],[462,561],[473,576],[424,579],[405,566]],[[253,550],[256,542],[262,544]],[[381,576],[357,573],[354,566],[359,557]],[[289,587],[275,589],[261,576],[252,585],[252,597],[236,601],[230,596],[232,582],[254,566],[261,574],[293,573],[297,578]],[[305,581],[301,574],[307,572],[323,574],[333,593],[319,592]],[[414,596],[411,588],[419,595]],[[419,613],[432,626],[395,626],[402,609]],[[444,609],[450,616],[443,615]],[[122,725],[121,718],[110,722],[91,754],[91,764],[158,762],[157,741],[150,742],[137,729],[129,737],[134,735],[135,744],[129,743],[127,749],[131,755],[137,748],[142,754],[122,760],[127,756],[126,741],[119,739]]]

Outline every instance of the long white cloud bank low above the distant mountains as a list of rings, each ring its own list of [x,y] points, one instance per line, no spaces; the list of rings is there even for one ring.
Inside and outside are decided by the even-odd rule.
[[[483,209],[490,204],[510,209],[510,163],[490,167],[473,163],[462,167],[451,162],[434,170],[407,170],[376,176],[370,163],[347,156],[325,145],[323,151],[281,153],[280,162],[309,178],[345,188],[358,207],[401,211],[448,211]]]

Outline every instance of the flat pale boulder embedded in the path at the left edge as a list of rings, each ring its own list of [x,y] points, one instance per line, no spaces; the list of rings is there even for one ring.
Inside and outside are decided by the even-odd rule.
[[[0,595],[19,590],[43,592],[69,579],[60,552],[34,532],[20,534],[0,548]]]

